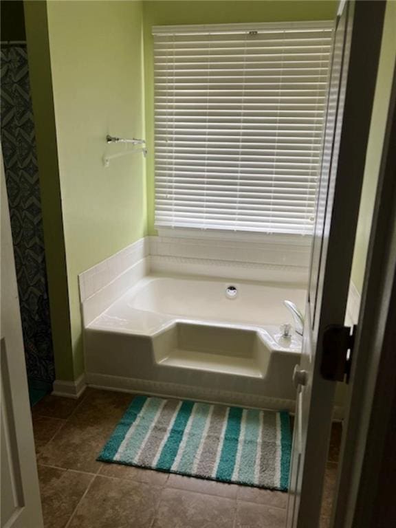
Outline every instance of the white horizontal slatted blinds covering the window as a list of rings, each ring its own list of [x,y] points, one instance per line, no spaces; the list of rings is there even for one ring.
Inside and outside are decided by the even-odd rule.
[[[155,224],[311,232],[331,25],[153,34]]]

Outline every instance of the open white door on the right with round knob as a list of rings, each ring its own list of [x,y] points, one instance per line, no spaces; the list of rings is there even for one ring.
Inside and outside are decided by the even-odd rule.
[[[333,379],[344,376],[334,344],[337,338],[328,329],[344,325],[380,50],[378,32],[373,32],[366,9],[372,3],[341,4],[334,33],[303,354],[294,375],[297,397],[287,528],[319,526],[336,387]],[[347,338],[342,331],[338,337]],[[333,340],[330,347],[323,346],[324,336]]]

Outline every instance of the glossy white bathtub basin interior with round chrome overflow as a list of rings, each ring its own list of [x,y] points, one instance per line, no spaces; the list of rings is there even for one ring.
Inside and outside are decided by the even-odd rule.
[[[232,298],[227,295],[230,286],[236,288]],[[258,327],[283,325],[293,322],[283,300],[304,310],[305,298],[301,285],[151,275],[105,310],[94,325],[146,333],[175,316]]]

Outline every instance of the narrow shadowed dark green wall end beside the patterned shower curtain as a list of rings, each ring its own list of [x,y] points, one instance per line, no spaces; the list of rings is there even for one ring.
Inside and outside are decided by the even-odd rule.
[[[41,191],[56,377],[74,379],[47,5],[26,1],[25,25]]]

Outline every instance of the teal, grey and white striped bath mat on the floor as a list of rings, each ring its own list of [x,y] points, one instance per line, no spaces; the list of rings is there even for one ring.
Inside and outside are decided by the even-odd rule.
[[[288,412],[137,396],[98,460],[287,491]]]

